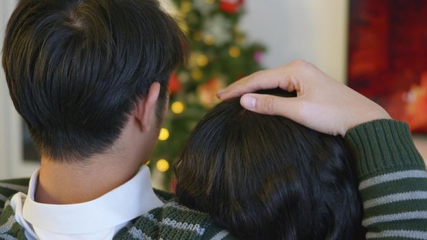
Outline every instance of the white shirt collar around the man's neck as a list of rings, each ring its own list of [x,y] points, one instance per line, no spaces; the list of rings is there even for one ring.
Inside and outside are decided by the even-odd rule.
[[[38,170],[30,179],[23,217],[35,228],[61,234],[82,234],[115,228],[163,206],[151,187],[150,170],[143,166],[135,177],[90,202],[41,204],[34,201]]]

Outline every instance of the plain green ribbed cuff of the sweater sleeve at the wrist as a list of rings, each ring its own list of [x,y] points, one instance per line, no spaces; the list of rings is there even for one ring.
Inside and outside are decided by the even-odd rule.
[[[359,180],[396,170],[426,169],[406,123],[370,121],[349,130],[345,139],[356,154]]]

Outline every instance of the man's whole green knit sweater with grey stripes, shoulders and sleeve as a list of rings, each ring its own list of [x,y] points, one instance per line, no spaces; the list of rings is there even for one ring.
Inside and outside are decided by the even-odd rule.
[[[356,152],[367,239],[427,239],[427,172],[406,123],[372,121],[345,136]],[[10,197],[27,192],[27,179],[0,181],[0,239],[25,239]],[[115,239],[234,239],[205,213],[156,191],[161,208],[133,219]],[[1,208],[1,206],[4,206]]]

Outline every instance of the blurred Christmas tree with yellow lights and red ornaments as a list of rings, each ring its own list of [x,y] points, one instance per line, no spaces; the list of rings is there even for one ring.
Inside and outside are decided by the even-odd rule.
[[[158,182],[155,187],[170,190],[173,165],[189,133],[218,104],[220,88],[261,69],[264,47],[246,43],[238,27],[244,0],[161,1],[187,34],[191,48],[187,66],[170,77],[170,109],[148,163]]]

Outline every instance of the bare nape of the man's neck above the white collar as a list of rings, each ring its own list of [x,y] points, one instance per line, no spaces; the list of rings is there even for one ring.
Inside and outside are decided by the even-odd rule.
[[[42,159],[36,202],[76,204],[97,197],[124,184],[135,176],[140,162],[98,156],[81,163],[61,163]]]

